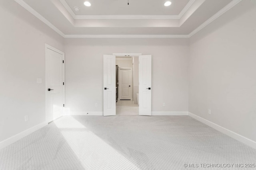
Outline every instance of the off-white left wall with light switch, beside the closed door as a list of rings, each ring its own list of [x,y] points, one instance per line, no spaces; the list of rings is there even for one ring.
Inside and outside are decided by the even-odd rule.
[[[0,1],[0,21],[1,142],[45,121],[45,43],[64,51],[64,38],[13,0]]]

